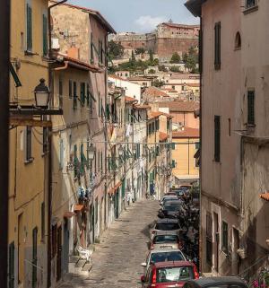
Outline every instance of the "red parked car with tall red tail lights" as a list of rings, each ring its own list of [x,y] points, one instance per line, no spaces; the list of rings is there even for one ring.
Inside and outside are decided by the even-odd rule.
[[[152,264],[146,275],[141,276],[141,282],[143,288],[174,288],[182,287],[187,280],[198,278],[194,263],[169,261]]]

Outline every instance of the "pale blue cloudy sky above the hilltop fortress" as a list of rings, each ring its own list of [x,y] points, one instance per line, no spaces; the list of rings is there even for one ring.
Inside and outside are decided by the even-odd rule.
[[[150,32],[161,22],[198,24],[187,0],[68,0],[69,4],[98,10],[117,32]]]

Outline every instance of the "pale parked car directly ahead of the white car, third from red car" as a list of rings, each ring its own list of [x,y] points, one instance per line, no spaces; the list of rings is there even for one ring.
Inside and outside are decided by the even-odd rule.
[[[150,249],[182,249],[183,241],[177,232],[158,231],[153,237]]]

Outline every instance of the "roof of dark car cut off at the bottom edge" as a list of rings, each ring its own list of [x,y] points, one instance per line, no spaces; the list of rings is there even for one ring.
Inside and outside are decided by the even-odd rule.
[[[183,288],[247,288],[247,284],[237,276],[223,276],[189,280]]]

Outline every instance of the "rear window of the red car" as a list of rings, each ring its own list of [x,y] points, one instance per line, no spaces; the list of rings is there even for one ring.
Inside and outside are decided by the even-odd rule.
[[[195,273],[192,266],[163,267],[157,269],[157,283],[187,281],[194,278]]]

